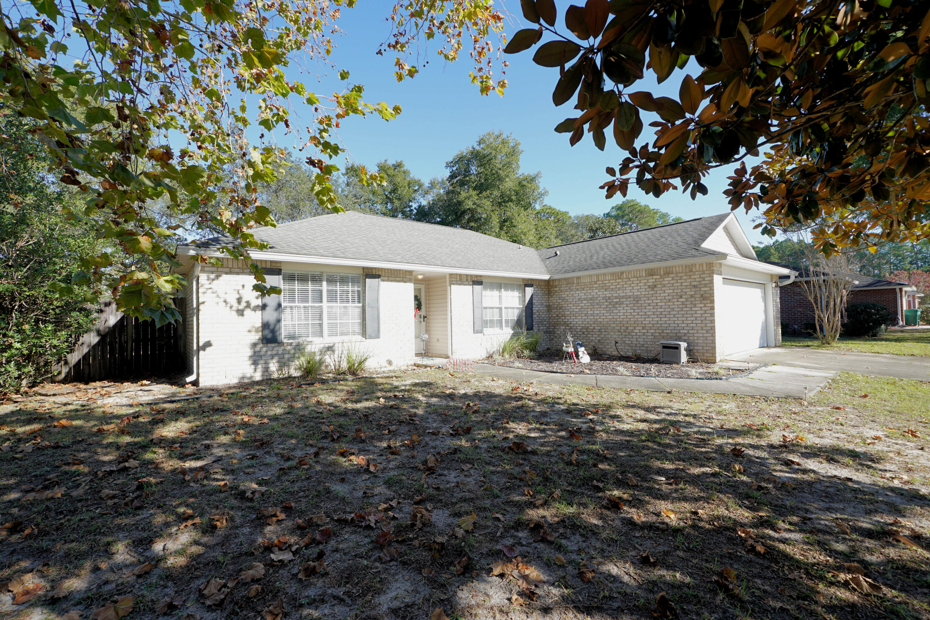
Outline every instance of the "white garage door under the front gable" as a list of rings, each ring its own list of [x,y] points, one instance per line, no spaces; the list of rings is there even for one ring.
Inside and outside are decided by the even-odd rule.
[[[723,331],[724,355],[765,346],[765,285],[724,280],[718,328]]]

